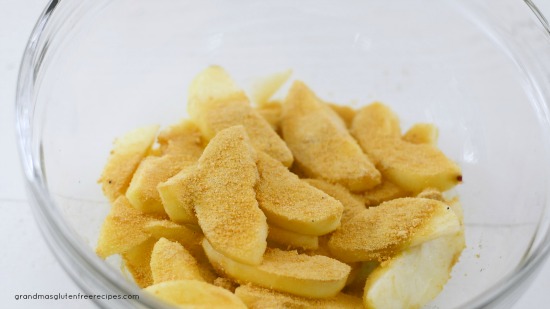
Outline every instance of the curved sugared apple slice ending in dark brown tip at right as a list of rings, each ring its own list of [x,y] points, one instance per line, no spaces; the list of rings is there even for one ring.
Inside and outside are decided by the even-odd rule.
[[[401,139],[397,116],[381,103],[360,109],[350,131],[384,178],[406,191],[445,191],[462,181],[460,168],[435,146]]]

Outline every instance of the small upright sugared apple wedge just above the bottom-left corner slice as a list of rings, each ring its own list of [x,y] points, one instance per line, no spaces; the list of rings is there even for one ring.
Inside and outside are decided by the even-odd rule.
[[[151,254],[151,273],[154,284],[172,280],[199,280],[197,261],[180,243],[159,239]]]

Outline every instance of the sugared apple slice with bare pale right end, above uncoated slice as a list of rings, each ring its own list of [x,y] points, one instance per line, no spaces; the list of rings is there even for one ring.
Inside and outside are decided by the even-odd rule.
[[[357,214],[329,240],[329,249],[345,262],[385,261],[409,247],[460,230],[450,207],[424,198],[399,198]]]

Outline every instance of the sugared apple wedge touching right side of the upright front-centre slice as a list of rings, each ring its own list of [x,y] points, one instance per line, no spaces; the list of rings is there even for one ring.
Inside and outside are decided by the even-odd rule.
[[[343,206],[292,174],[280,162],[258,153],[256,199],[268,222],[306,235],[323,235],[340,226]]]

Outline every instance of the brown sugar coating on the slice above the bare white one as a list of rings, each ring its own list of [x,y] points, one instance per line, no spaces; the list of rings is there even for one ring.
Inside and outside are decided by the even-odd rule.
[[[432,218],[440,203],[400,198],[368,208],[332,234],[329,249],[348,262],[387,260]]]

